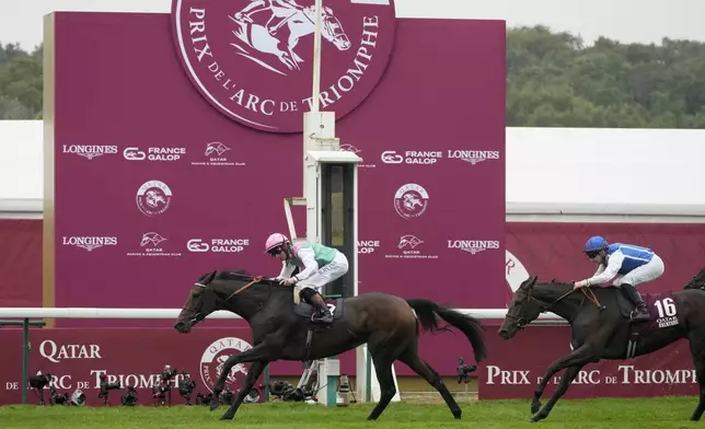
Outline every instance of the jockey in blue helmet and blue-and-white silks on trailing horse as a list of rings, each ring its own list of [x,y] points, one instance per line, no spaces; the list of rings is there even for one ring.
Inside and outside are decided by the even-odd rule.
[[[648,321],[649,312],[635,286],[655,280],[663,274],[663,260],[650,248],[633,244],[609,244],[601,236],[592,236],[585,244],[582,252],[598,265],[598,270],[589,279],[575,283],[576,288],[612,282],[622,289],[624,294],[636,305],[632,320]]]

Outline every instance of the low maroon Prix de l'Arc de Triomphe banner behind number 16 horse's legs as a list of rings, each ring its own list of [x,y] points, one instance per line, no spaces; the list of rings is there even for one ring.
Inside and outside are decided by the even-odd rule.
[[[551,364],[568,355],[566,326],[530,326],[502,340],[489,332],[489,357],[477,369],[479,399],[533,397]],[[625,344],[626,350],[626,344]],[[542,401],[555,392],[563,371],[551,378]],[[564,398],[696,395],[697,379],[687,341],[627,360],[602,360],[582,368]]]

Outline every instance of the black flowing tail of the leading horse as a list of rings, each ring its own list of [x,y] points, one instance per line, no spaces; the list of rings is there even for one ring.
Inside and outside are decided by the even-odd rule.
[[[424,331],[440,332],[448,331],[447,327],[439,327],[438,320],[442,318],[450,325],[460,329],[473,346],[475,361],[481,362],[487,356],[487,346],[485,345],[484,329],[482,323],[470,314],[463,314],[459,311],[435,303],[429,300],[409,299],[406,302],[416,312],[416,318],[421,324]]]

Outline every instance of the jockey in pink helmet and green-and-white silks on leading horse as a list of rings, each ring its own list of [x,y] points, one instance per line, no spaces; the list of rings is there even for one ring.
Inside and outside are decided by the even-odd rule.
[[[277,276],[281,280],[279,282],[286,286],[298,285],[301,298],[317,310],[311,320],[332,323],[333,314],[323,301],[321,288],[348,271],[345,255],[320,243],[298,241],[292,244],[286,235],[278,232],[267,239],[265,253],[281,260],[281,273]],[[301,273],[291,277],[297,267]]]

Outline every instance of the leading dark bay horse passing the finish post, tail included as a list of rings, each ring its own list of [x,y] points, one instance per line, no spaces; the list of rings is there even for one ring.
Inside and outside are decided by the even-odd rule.
[[[380,292],[338,299],[335,305],[333,323],[321,327],[310,320],[311,305],[294,303],[292,287],[281,286],[273,279],[253,278],[244,270],[212,271],[190,288],[174,328],[188,333],[195,323],[216,310],[233,312],[250,324],[253,347],[228,358],[213,387],[211,410],[218,407],[218,396],[232,367],[252,362],[243,386],[221,420],[235,416],[267,363],[322,359],[366,343],[381,391],[380,401],[368,420],[377,419],[396,394],[392,375],[395,360],[406,363],[436,387],[452,415],[461,418],[462,410],[440,375],[418,357],[419,327],[430,332],[447,331],[447,327],[438,326],[438,320],[442,318],[467,337],[475,360],[479,362],[486,355],[479,321],[429,300],[405,300]],[[313,332],[310,341],[309,332]]]

